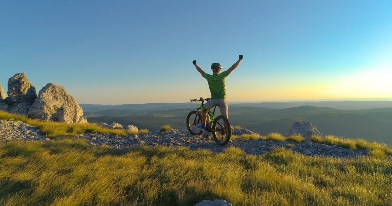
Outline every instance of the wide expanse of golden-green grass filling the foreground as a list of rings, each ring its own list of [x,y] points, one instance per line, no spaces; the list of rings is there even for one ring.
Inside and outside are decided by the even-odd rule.
[[[69,139],[0,142],[0,205],[390,205],[392,163],[228,147],[115,150]]]

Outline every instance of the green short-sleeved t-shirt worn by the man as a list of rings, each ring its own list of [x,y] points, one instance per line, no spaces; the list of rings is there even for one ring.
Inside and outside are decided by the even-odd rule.
[[[228,76],[227,70],[221,74],[207,74],[204,73],[203,77],[207,79],[208,86],[210,87],[211,99],[226,99],[226,83],[225,78]]]

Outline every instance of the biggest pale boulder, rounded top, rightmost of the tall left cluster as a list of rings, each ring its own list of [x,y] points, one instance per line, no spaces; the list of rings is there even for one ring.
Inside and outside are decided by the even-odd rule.
[[[38,94],[28,111],[28,117],[45,121],[87,123],[83,109],[63,86],[47,84]]]

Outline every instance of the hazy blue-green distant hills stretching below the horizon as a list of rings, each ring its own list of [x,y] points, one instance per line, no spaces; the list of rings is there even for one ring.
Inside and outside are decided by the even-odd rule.
[[[364,138],[369,141],[392,145],[392,104],[389,108],[372,108],[372,106],[386,106],[391,103],[391,101],[381,102],[314,103],[321,105],[329,103],[335,106],[339,105],[340,108],[348,108],[349,103],[354,104],[353,108],[370,107],[370,109],[353,110],[310,105],[280,109],[271,108],[288,106],[290,103],[277,103],[275,106],[271,103],[230,104],[229,119],[233,126],[239,125],[262,135],[271,132],[279,132],[285,135],[295,121],[306,120],[312,122],[324,134],[333,134],[345,138]],[[312,103],[309,102],[309,104]],[[118,106],[82,104],[81,106],[89,122],[132,124],[140,129],[147,128],[151,131],[159,130],[166,124],[175,129],[186,129],[185,119],[187,114],[191,110],[196,110],[195,103],[151,103]],[[216,113],[219,114],[218,109]]]

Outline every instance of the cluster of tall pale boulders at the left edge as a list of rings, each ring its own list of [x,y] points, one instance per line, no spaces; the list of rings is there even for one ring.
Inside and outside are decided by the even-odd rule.
[[[87,123],[83,109],[65,88],[47,84],[38,96],[25,73],[15,74],[8,80],[8,97],[0,85],[0,110],[44,121]]]

